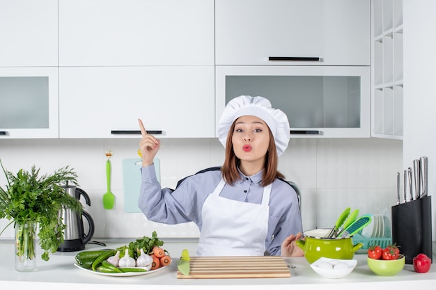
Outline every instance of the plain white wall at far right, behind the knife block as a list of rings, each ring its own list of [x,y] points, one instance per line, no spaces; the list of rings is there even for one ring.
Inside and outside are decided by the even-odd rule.
[[[403,0],[403,167],[428,156],[428,193],[436,191],[436,1]],[[436,203],[432,198],[433,241]]]

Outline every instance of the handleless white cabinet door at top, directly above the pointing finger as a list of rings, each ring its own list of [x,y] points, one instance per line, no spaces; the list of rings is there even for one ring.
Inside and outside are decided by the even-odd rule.
[[[59,0],[59,64],[213,65],[213,3]]]

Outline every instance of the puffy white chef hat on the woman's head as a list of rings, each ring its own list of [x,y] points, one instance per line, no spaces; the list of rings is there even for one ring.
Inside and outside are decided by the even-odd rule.
[[[233,122],[243,115],[254,115],[264,120],[274,136],[277,155],[283,154],[290,138],[288,117],[283,111],[272,108],[268,99],[259,96],[239,96],[228,102],[218,123],[218,138],[224,147],[226,147],[228,130]]]

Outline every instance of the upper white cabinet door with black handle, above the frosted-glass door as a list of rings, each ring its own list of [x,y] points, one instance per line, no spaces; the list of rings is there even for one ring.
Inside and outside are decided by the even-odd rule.
[[[217,65],[371,64],[369,0],[216,0],[215,15]]]

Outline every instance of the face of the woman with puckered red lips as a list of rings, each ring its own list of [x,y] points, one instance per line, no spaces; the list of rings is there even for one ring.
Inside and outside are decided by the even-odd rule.
[[[260,118],[245,115],[235,121],[233,151],[241,161],[260,161],[263,166],[270,145],[270,129]]]

